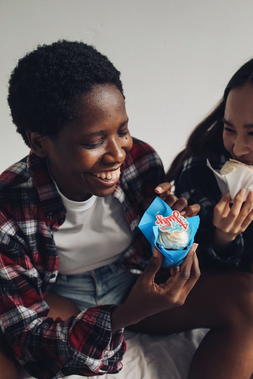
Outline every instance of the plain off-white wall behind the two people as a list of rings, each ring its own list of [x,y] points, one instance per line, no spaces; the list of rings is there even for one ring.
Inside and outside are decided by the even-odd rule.
[[[37,44],[96,46],[121,71],[133,135],[165,168],[253,56],[252,0],[2,0],[0,172],[27,154],[10,118],[8,78]]]

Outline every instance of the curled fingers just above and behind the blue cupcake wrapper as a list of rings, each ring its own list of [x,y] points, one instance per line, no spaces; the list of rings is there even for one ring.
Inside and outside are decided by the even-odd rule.
[[[170,183],[164,182],[157,185],[155,193],[174,211],[179,211],[181,216],[185,218],[196,216],[200,211],[200,205],[188,205],[185,198],[177,198],[177,196],[171,195],[171,188],[172,185]]]

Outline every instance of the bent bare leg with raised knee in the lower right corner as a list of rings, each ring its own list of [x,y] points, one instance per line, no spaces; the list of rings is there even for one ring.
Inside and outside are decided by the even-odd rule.
[[[201,274],[183,306],[133,325],[149,333],[210,328],[197,349],[189,379],[249,379],[253,372],[253,274]]]

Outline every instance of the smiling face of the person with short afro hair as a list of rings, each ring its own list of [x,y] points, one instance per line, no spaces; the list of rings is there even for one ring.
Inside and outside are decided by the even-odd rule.
[[[47,156],[62,194],[84,201],[112,194],[133,141],[123,96],[114,85],[94,86],[83,96],[79,113],[56,137],[30,133],[29,139],[33,147],[39,138],[41,150],[33,150]]]

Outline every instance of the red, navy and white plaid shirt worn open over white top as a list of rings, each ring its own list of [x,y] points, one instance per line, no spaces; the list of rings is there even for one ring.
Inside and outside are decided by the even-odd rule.
[[[113,196],[122,203],[134,235],[122,261],[141,272],[151,256],[138,223],[164,181],[161,161],[134,139]],[[0,177],[0,325],[17,360],[40,378],[118,372],[125,352],[123,330],[111,334],[114,305],[82,311],[66,321],[47,317],[44,300],[58,273],[53,233],[65,208],[45,159],[30,153]]]

